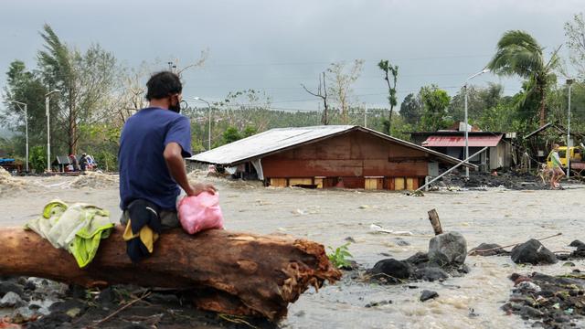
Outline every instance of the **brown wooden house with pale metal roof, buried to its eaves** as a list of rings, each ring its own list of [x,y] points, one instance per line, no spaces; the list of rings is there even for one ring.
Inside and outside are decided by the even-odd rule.
[[[351,125],[279,128],[220,146],[188,160],[215,164],[266,186],[413,190],[452,156]],[[476,169],[473,164],[467,166]]]

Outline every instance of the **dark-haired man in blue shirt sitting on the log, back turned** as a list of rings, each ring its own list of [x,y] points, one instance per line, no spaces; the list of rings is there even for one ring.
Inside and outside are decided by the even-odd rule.
[[[183,90],[179,77],[169,71],[155,73],[146,87],[149,107],[125,122],[120,137],[120,221],[127,225],[129,218],[135,220],[129,210],[140,208],[137,217],[147,209],[160,220],[162,229],[176,228],[180,226],[176,215],[179,186],[187,196],[214,193],[215,187],[191,185],[187,179],[183,158],[191,156],[191,127],[186,116],[179,114]]]

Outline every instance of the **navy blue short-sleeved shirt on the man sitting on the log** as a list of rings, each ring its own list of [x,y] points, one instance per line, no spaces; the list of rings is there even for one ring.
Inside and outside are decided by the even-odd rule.
[[[191,156],[191,127],[179,113],[146,108],[126,121],[118,152],[122,210],[139,198],[164,210],[176,210],[179,187],[163,156],[165,146],[172,142],[181,146],[184,157]]]

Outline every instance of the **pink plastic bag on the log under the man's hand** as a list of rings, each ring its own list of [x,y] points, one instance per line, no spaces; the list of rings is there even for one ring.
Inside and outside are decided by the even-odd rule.
[[[203,192],[198,196],[185,196],[179,201],[179,220],[189,234],[202,230],[223,229],[223,215],[219,207],[219,195]]]

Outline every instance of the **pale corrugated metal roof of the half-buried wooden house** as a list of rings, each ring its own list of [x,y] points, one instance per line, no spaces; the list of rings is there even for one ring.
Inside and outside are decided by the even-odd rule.
[[[188,159],[207,164],[241,164],[250,160],[258,159],[261,156],[293,148],[303,143],[314,143],[324,138],[329,138],[334,135],[346,133],[352,130],[360,130],[365,133],[371,133],[388,141],[418,149],[428,154],[432,154],[447,163],[459,164],[460,162],[460,160],[452,156],[441,154],[414,143],[409,143],[398,138],[388,136],[384,133],[378,133],[371,129],[352,125],[326,125],[271,129],[264,133],[258,133],[248,138],[219,146],[218,148],[215,148],[211,151],[195,154]],[[468,164],[468,166],[471,168],[476,167],[476,165],[473,164]]]

